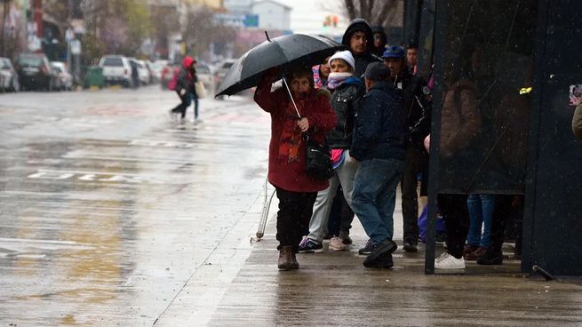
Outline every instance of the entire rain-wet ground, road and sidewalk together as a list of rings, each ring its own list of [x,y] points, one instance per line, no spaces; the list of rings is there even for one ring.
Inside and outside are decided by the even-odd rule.
[[[156,86],[0,95],[0,325],[582,325],[582,282],[522,275],[513,244],[498,267],[427,276],[424,247],[401,246],[393,269],[366,269],[356,219],[350,251],[279,272],[276,201],[255,235],[268,115],[204,99],[203,122],[190,108],[182,123],[176,100]]]

